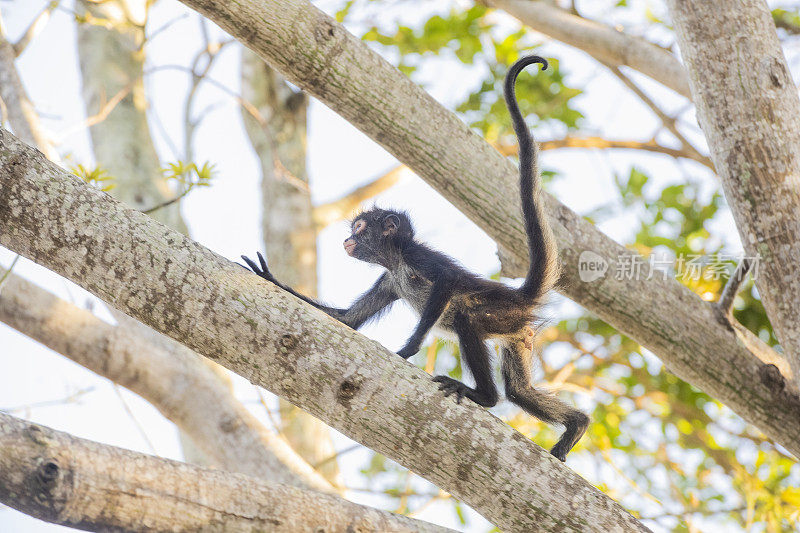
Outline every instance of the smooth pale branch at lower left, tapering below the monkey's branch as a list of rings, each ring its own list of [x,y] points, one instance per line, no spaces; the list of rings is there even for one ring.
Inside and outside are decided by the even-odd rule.
[[[112,326],[13,274],[0,292],[0,321],[149,401],[217,466],[334,491],[185,346],[132,320]]]

